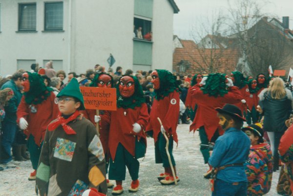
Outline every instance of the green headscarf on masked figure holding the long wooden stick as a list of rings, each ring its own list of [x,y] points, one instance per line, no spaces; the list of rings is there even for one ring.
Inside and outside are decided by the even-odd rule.
[[[167,70],[156,70],[160,79],[160,88],[155,89],[155,99],[160,100],[167,97],[171,92],[176,90],[179,91],[176,79],[170,71]]]

